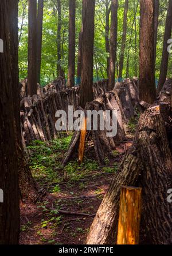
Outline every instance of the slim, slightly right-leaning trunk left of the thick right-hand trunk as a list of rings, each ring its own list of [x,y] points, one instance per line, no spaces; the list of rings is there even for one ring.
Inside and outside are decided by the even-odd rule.
[[[127,13],[128,13],[128,0],[126,0],[125,6],[124,6],[123,37],[122,37],[122,47],[120,50],[120,61],[119,61],[119,78],[122,78],[123,76],[124,51],[126,48],[126,35],[127,35]]]

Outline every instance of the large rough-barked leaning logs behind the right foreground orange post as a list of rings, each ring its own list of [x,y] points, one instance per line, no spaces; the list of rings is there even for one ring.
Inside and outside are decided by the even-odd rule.
[[[116,242],[120,186],[142,187],[140,243],[170,244],[172,157],[161,107],[149,108],[139,120],[131,149],[112,180],[88,234],[87,244]]]

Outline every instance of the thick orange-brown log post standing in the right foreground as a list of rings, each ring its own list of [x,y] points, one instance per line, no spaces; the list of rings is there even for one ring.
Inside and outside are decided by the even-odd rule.
[[[141,193],[140,187],[121,188],[117,244],[139,244]]]

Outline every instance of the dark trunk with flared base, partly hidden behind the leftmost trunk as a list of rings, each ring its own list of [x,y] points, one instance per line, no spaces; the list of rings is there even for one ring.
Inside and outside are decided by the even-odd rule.
[[[15,17],[11,17],[15,20]],[[16,18],[17,19],[17,18]],[[17,21],[16,21],[17,22]],[[11,21],[13,24],[13,21]],[[36,202],[42,197],[42,193],[39,193],[38,186],[33,179],[30,171],[28,161],[26,160],[24,148],[22,147],[21,138],[21,123],[20,123],[20,100],[19,100],[19,81],[18,81],[18,37],[11,32],[10,36],[10,51],[13,55],[11,60],[11,74],[13,77],[13,104],[14,104],[14,127],[15,127],[15,140],[17,147],[17,162],[18,162],[18,176],[19,176],[19,190],[21,199],[24,201]],[[13,67],[16,67],[15,69]]]

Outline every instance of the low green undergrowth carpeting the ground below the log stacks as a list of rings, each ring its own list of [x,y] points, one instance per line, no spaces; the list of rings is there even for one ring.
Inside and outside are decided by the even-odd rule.
[[[29,150],[29,165],[36,182],[46,187],[51,193],[60,192],[60,183],[83,182],[90,176],[99,176],[102,173],[116,172],[118,166],[99,167],[97,161],[84,157],[84,163],[79,164],[77,160],[69,162],[64,168],[61,167],[61,161],[68,150],[72,135],[58,138],[49,142],[33,141]],[[108,160],[107,163],[108,165]],[[65,175],[64,175],[65,174]],[[81,183],[82,184],[82,183]],[[69,186],[71,186],[69,184]]]

